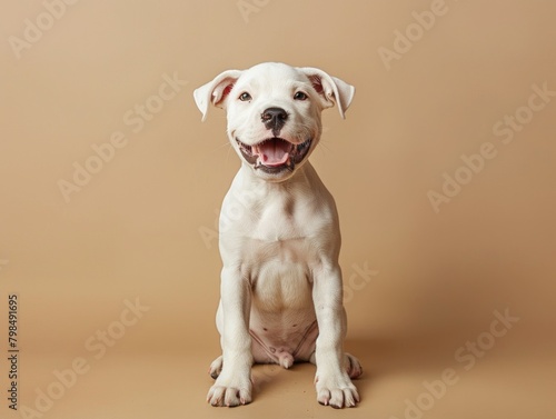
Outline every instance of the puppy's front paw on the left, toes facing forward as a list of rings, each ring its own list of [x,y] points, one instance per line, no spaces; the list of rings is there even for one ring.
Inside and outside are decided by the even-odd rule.
[[[222,377],[220,375],[207,395],[207,402],[212,406],[240,406],[251,402],[252,385],[249,376]]]

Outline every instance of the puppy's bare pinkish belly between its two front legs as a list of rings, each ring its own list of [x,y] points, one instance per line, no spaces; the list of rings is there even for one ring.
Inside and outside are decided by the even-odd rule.
[[[318,327],[305,263],[265,263],[252,289],[250,333],[256,362],[289,366],[315,351]]]

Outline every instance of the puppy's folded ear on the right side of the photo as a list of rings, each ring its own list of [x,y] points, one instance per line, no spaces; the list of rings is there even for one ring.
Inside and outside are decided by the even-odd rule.
[[[346,118],[345,112],[354,99],[355,88],[319,69],[305,67],[299,70],[309,78],[317,93],[324,99],[324,107],[330,108],[336,103],[340,117]]]

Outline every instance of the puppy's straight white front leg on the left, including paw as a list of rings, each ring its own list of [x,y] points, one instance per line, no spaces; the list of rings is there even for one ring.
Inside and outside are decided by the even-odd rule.
[[[212,406],[247,405],[251,401],[251,297],[249,281],[239,269],[222,269],[220,298],[218,316],[224,363],[207,401]]]

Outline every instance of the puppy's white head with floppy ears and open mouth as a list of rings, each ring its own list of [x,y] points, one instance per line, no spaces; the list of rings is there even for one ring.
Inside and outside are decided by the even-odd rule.
[[[227,111],[228,137],[256,176],[282,181],[307,161],[320,139],[320,112],[349,107],[355,88],[314,68],[266,62],[228,70],[195,90],[206,119],[214,104]]]

